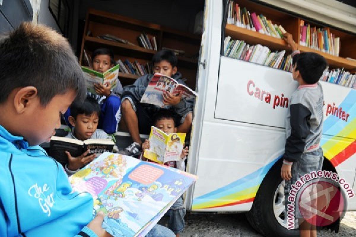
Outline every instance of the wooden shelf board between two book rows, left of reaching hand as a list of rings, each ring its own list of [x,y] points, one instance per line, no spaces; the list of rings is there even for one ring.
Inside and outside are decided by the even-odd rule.
[[[261,44],[267,46],[271,50],[291,50],[284,39],[275,38],[268,36],[267,34],[251,31],[231,24],[226,25],[225,35],[231,36],[234,39],[246,41],[248,44]]]

